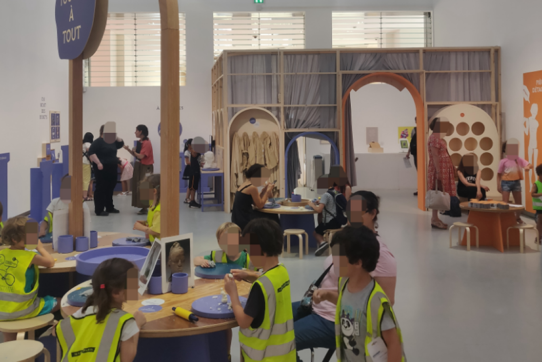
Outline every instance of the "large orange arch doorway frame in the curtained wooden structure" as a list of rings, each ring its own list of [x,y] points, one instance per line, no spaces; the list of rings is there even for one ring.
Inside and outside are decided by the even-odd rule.
[[[372,73],[369,75],[364,76],[363,78],[360,78],[357,80],[352,86],[346,91],[346,93],[343,95],[343,116],[342,116],[342,129],[343,132],[341,134],[341,164],[343,166],[345,165],[346,160],[346,135],[345,135],[345,114],[344,110],[346,109],[346,100],[350,96],[351,91],[357,91],[358,89],[362,88],[364,85],[375,83],[375,82],[381,82],[390,84],[393,87],[397,88],[399,91],[402,91],[403,89],[407,89],[412,96],[412,99],[414,100],[414,104],[416,106],[416,134],[417,134],[417,145],[418,145],[418,208],[421,210],[425,210],[425,181],[427,179],[427,169],[425,166],[425,153],[426,153],[426,143],[425,140],[425,107],[423,98],[420,95],[420,92],[414,87],[414,84],[406,80],[406,78],[403,78],[402,76],[395,74],[395,73]]]

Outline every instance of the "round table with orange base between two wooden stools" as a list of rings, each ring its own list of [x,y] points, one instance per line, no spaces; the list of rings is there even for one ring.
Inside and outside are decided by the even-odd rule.
[[[469,210],[468,223],[472,223],[479,229],[479,245],[493,246],[504,253],[506,242],[506,230],[518,225],[515,212],[525,209],[523,206],[511,206],[508,210],[503,209],[479,209],[469,207],[468,202],[460,203],[463,210]],[[467,245],[467,235],[463,235],[461,245]],[[519,231],[510,233],[510,245],[519,247]]]

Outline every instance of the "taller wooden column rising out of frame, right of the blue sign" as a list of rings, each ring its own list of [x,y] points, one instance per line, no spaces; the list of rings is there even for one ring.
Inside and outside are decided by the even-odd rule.
[[[160,56],[160,235],[179,234],[179,5],[177,0],[159,0]]]

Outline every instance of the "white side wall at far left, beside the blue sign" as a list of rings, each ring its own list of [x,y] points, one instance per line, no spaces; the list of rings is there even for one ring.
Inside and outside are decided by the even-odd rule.
[[[5,219],[30,210],[30,168],[49,142],[40,103],[47,118],[61,113],[61,142],[51,148],[68,143],[68,61],[58,55],[54,2],[2,1],[0,49],[0,153],[10,153]]]

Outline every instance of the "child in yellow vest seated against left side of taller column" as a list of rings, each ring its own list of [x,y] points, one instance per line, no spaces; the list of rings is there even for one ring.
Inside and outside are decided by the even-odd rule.
[[[160,239],[160,175],[153,174],[142,181],[139,194],[142,200],[149,200],[152,203],[147,220],[136,221],[133,229],[144,232],[145,238],[154,242],[154,239]]]

